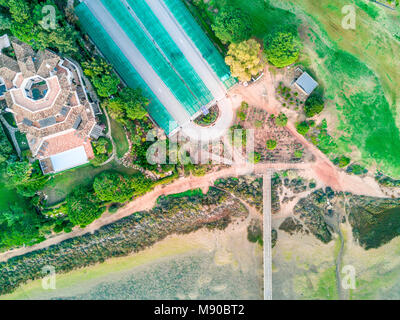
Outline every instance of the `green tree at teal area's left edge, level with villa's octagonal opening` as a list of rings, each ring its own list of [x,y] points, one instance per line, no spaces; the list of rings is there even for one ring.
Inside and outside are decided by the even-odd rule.
[[[109,97],[117,93],[120,80],[104,59],[92,58],[82,65],[83,72],[90,78],[99,96]]]

